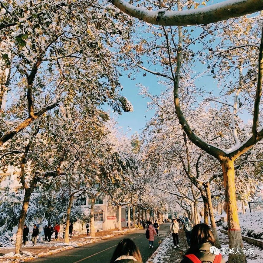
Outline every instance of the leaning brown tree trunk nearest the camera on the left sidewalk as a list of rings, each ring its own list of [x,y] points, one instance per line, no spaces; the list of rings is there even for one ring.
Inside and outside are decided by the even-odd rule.
[[[18,221],[15,254],[20,254],[22,251],[23,228],[24,228],[24,224],[25,224],[25,220],[26,220],[30,196],[31,196],[31,191],[29,189],[28,190],[25,189],[25,195],[24,195],[22,210],[20,213],[19,221]]]

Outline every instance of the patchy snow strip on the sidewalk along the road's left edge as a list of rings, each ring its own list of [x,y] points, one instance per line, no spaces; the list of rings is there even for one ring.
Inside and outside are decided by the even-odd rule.
[[[98,236],[98,237],[91,237],[91,236],[85,236],[85,237],[79,237],[73,240],[69,241],[69,244],[64,243],[64,242],[57,242],[57,241],[50,241],[50,242],[37,242],[36,247],[33,248],[33,243],[31,241],[28,241],[26,246],[24,246],[23,248],[28,248],[33,252],[28,252],[28,251],[23,251],[22,254],[14,254],[14,252],[10,252],[7,253],[3,256],[0,256],[0,263],[9,263],[9,262],[24,262],[25,260],[33,260],[36,259],[38,257],[43,257],[43,256],[47,256],[47,255],[52,255],[64,250],[70,250],[73,247],[79,247],[79,246],[83,246],[83,245],[87,245],[87,244],[91,244],[93,242],[97,242],[99,240],[102,239],[108,239],[111,237],[114,237],[116,235],[122,235],[125,234],[126,232],[130,232],[130,231],[135,231],[136,229],[133,228],[131,230],[128,229],[124,229],[122,231],[113,231],[112,234],[110,235],[102,235],[102,236]],[[103,231],[102,231],[103,232]],[[57,246],[57,249],[52,249],[52,247],[54,248],[54,246]],[[48,252],[41,252],[41,253],[37,253],[39,251],[39,249],[37,249],[38,247],[41,248],[47,248]],[[4,247],[3,249],[14,249],[14,245],[8,246],[8,247]],[[36,251],[36,252],[35,252]],[[42,249],[43,251],[43,249]],[[0,253],[1,253],[1,249],[0,249]]]

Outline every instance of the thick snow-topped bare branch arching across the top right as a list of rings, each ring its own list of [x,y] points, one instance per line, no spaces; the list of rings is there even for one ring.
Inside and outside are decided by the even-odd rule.
[[[124,13],[146,23],[160,26],[188,26],[210,24],[263,10],[263,0],[228,0],[208,7],[185,11],[148,11],[123,0],[110,0]]]

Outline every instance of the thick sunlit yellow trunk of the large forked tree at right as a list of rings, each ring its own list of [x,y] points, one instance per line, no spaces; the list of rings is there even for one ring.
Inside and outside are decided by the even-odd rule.
[[[221,160],[225,186],[225,203],[227,214],[227,228],[229,237],[229,248],[234,251],[242,251],[243,242],[239,219],[237,214],[236,194],[235,194],[235,168],[234,161],[230,159]],[[241,253],[229,254],[229,263],[245,263],[246,255]]]

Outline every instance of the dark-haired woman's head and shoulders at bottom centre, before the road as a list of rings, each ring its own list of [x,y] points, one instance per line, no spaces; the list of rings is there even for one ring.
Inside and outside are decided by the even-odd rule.
[[[110,263],[141,263],[141,253],[135,243],[124,238],[116,247]]]

